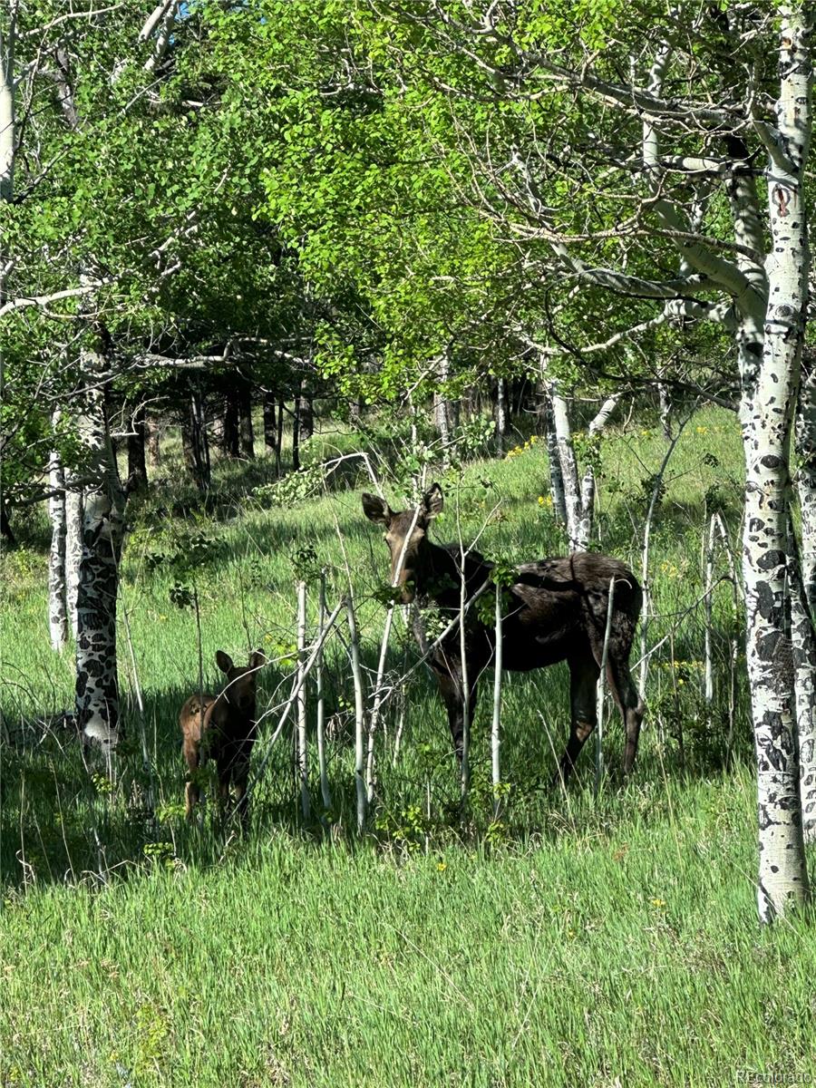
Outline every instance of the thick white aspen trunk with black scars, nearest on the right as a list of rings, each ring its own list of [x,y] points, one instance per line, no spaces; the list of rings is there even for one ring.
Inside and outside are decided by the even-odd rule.
[[[811,59],[802,12],[783,14],[778,134],[769,149],[768,310],[753,396],[743,413],[746,656],[757,761],[759,919],[808,897],[795,735],[789,596],[789,448],[807,299],[803,176],[811,132]]]

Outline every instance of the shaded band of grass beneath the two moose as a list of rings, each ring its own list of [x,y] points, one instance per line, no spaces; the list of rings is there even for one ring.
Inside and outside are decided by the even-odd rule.
[[[375,668],[375,654],[364,667]],[[30,885],[102,885],[159,865],[208,868],[226,858],[251,864],[254,848],[276,834],[296,836],[316,845],[343,843],[349,849],[390,852],[440,850],[453,843],[482,849],[500,843],[530,843],[565,836],[606,833],[615,824],[635,818],[662,819],[668,792],[683,782],[722,772],[719,747],[707,730],[685,724],[681,752],[662,712],[644,734],[633,781],[620,789],[615,769],[622,754],[617,713],[607,722],[607,777],[597,801],[592,798],[593,743],[586,746],[566,792],[552,780],[566,741],[568,677],[555,666],[537,676],[510,676],[505,693],[502,812],[496,817],[490,765],[490,683],[483,684],[472,739],[469,804],[461,805],[459,779],[441,701],[422,672],[411,679],[404,705],[385,716],[375,740],[375,799],[362,836],[357,834],[354,774],[354,696],[336,663],[326,690],[326,754],[332,804],[324,808],[318,782],[313,728],[310,779],[312,814],[304,820],[294,774],[292,730],[285,729],[270,750],[280,710],[261,727],[252,757],[256,775],[250,831],[245,839],[235,824],[224,830],[212,791],[195,823],[183,816],[185,766],[181,755],[178,708],[189,690],[170,688],[145,693],[144,728],[148,750],[143,759],[141,718],[125,716],[125,740],[118,757],[115,782],[87,762],[70,720],[37,732],[27,727],[3,749],[3,804],[0,808],[0,879],[7,888]],[[275,678],[277,679],[277,678]],[[264,681],[264,691],[272,687]],[[485,681],[487,678],[485,677]],[[284,690],[286,683],[284,682]],[[267,693],[259,707],[267,705]],[[280,702],[281,695],[274,700]],[[721,709],[721,708],[720,708]],[[395,737],[404,715],[400,752]],[[541,712],[541,713],[540,713]],[[545,725],[546,722],[546,725]],[[719,722],[719,725],[718,725]],[[747,737],[745,724],[740,735]],[[740,753],[749,745],[740,745]],[[682,757],[681,757],[682,756]],[[610,774],[611,772],[611,774]],[[651,798],[644,808],[641,798]],[[629,799],[629,800],[628,800]],[[634,799],[634,800],[632,800]],[[631,802],[631,805],[630,805]],[[633,807],[632,807],[633,806]]]

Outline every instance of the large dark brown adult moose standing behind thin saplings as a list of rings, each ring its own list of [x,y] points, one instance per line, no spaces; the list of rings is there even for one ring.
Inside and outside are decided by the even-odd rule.
[[[430,597],[452,615],[460,608],[461,582],[470,601],[490,579],[493,564],[475,551],[465,556],[458,544],[440,545],[428,536],[431,521],[442,511],[442,489],[434,483],[419,506],[392,510],[376,495],[362,495],[366,517],[381,524],[391,551],[392,584],[403,604],[419,594]],[[401,560],[401,565],[400,565]],[[609,585],[615,579],[613,616],[607,643],[607,678],[626,726],[623,776],[638,753],[644,706],[629,671],[629,654],[643,601],[631,570],[619,559],[592,552],[526,562],[509,588],[510,605],[503,619],[504,667],[518,672],[566,660],[570,670],[571,726],[560,759],[558,777],[566,782],[581,749],[597,724],[596,682],[606,634]],[[465,670],[458,625],[442,640],[430,658],[445,703],[454,747],[461,759],[465,724],[465,685],[468,706],[475,705],[480,675],[490,664],[495,630],[470,609],[465,620]]]

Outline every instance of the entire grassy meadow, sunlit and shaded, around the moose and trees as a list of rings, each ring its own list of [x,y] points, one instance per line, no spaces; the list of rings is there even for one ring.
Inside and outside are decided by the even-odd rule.
[[[656,426],[633,421],[602,445],[593,546],[639,576],[666,448]],[[310,456],[351,449],[326,430]],[[380,453],[372,463],[393,467],[394,450]],[[721,510],[739,557],[740,463],[737,421],[718,410],[688,423],[668,463],[651,533],[647,727],[626,788],[607,776],[593,795],[592,745],[567,791],[552,788],[566,666],[508,675],[496,816],[490,673],[462,809],[444,709],[420,667],[378,733],[363,836],[339,635],[326,645],[330,808],[314,766],[304,824],[290,730],[269,744],[292,683],[299,573],[312,630],[316,571],[326,571],[330,608],[350,578],[373,680],[388,568],[360,509],[362,462],[343,462],[305,497],[305,485],[272,485],[265,458],[219,462],[205,506],[168,443],[150,495],[128,511],[126,739],[113,782],[86,769],[65,720],[73,667],[48,643],[46,527],[39,511],[21,523],[0,560],[0,1085],[629,1088],[726,1085],[745,1070],[816,1075],[813,929],[755,923],[744,659],[725,578],[713,603],[715,698],[703,698],[703,540]],[[543,444],[520,437],[504,459],[443,478],[434,535],[454,539],[459,524],[510,562],[562,553],[547,481]],[[387,481],[386,493],[396,507]],[[720,547],[717,578],[728,569]],[[177,714],[198,687],[199,646],[177,585],[198,602],[208,688],[217,650],[238,664],[255,647],[270,658],[246,838],[222,833],[208,806],[183,818]],[[390,676],[417,656],[397,617]],[[608,700],[604,745],[614,770],[622,730]]]

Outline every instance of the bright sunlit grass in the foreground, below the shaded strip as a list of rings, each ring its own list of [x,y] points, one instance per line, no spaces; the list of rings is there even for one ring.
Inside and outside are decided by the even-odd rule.
[[[745,775],[642,784],[605,820],[497,851],[273,833],[218,865],[14,897],[3,1083],[812,1073],[813,931],[753,923],[752,792]]]

